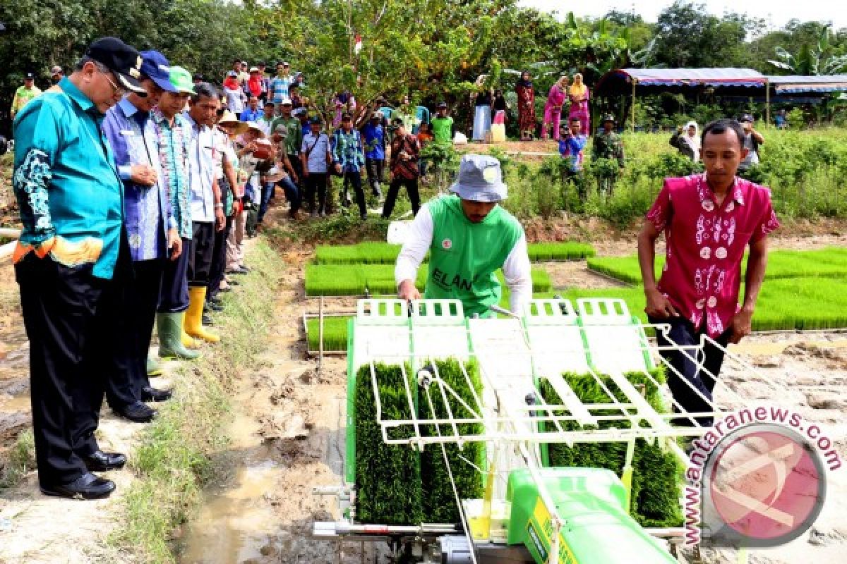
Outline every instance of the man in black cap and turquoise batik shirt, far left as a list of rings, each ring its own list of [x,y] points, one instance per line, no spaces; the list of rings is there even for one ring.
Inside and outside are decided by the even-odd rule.
[[[114,483],[91,470],[126,462],[94,436],[104,377],[116,368],[107,351],[125,331],[118,290],[131,270],[121,180],[101,125],[126,90],[144,92],[140,67],[135,49],[99,39],[14,123],[23,229],[13,261],[30,339],[38,481],[48,496],[106,497]]]

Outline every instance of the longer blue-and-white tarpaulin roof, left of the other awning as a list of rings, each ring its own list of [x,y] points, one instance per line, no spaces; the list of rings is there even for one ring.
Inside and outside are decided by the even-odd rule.
[[[619,68],[597,82],[598,93],[654,89],[761,88],[767,77],[752,68]]]

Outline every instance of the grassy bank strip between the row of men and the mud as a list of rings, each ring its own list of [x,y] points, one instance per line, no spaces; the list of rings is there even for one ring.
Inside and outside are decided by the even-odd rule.
[[[180,363],[172,375],[174,399],[160,404],[159,416],[130,456],[137,476],[126,491],[125,523],[110,539],[140,562],[175,562],[174,530],[191,517],[214,468],[211,455],[228,442],[233,380],[255,368],[274,314],[268,295],[283,270],[274,250],[260,239],[248,253],[252,273],[224,294],[226,309],[216,316],[219,344],[202,358]]]

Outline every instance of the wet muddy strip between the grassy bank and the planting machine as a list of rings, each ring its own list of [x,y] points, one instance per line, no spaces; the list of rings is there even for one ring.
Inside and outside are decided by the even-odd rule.
[[[294,264],[289,261],[293,259]],[[316,519],[334,519],[333,498],[316,485],[340,485],[344,456],[346,361],[305,359],[303,273],[296,256],[274,304],[277,326],[263,369],[243,378],[235,398],[229,471],[208,492],[182,543],[183,564],[329,562],[337,546],[310,539]],[[344,545],[341,561],[360,561]],[[373,560],[374,547],[366,547]]]

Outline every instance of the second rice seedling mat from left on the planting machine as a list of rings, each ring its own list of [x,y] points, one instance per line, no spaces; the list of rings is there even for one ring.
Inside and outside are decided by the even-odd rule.
[[[441,381],[444,381],[447,386],[456,392],[459,397],[468,403],[468,405],[476,405],[473,401],[473,391],[477,397],[482,394],[482,381],[479,377],[479,366],[476,363],[466,364],[465,370],[468,372],[468,379],[462,373],[462,364],[454,359],[438,361],[435,363],[438,375]],[[418,417],[421,419],[443,419],[448,416],[447,405],[455,419],[467,419],[474,416],[467,408],[462,406],[462,403],[456,397],[451,396],[446,392],[447,402],[444,401],[440,393],[437,383],[429,386],[429,397],[432,399],[430,408],[427,399],[427,392],[420,390],[418,392]],[[462,435],[482,435],[484,427],[482,424],[464,423],[457,424],[458,432]],[[434,436],[452,435],[453,428],[451,425],[438,425],[436,431],[435,425],[425,425],[421,430],[422,435]],[[462,448],[456,444],[449,443],[445,445],[447,459],[450,461],[450,468],[453,474],[453,479],[456,482],[456,487],[460,499],[479,499],[483,495],[483,476],[477,468],[484,468],[485,464],[485,446],[482,442],[469,442]],[[477,468],[473,468],[470,461]],[[424,452],[421,452],[421,479],[423,481],[423,490],[426,495],[423,498],[424,503],[424,522],[425,523],[458,523],[459,510],[456,504],[456,497],[453,495],[453,489],[450,483],[450,477],[447,474],[447,468],[444,462],[444,452],[440,445],[427,446]]]

